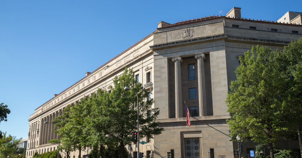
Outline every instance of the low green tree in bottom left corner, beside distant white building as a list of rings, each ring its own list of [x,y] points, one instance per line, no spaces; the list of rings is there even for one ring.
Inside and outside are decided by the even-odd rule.
[[[3,133],[2,139],[0,139],[0,157],[13,156],[17,153],[17,145],[21,139],[17,139],[15,136]]]

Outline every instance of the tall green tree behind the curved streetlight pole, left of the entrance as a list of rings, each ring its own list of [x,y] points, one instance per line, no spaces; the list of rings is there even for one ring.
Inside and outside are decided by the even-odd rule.
[[[141,83],[136,83],[133,70],[124,70],[120,76],[113,79],[114,85],[111,92],[98,90],[98,95],[88,99],[86,106],[91,111],[85,120],[86,128],[93,133],[95,138],[106,145],[119,147],[120,157],[124,158],[125,146],[133,142],[133,131],[137,131],[137,95],[139,103],[140,138],[161,134],[163,128],[158,127],[156,118],[159,114],[158,108],[152,108],[153,99],[149,100],[148,93]],[[124,87],[130,87],[134,91],[124,91]],[[105,136],[105,137],[104,137]]]

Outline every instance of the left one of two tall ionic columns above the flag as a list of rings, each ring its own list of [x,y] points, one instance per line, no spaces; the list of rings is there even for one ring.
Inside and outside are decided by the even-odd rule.
[[[182,118],[182,75],[180,71],[182,58],[174,56],[172,61],[175,65],[175,118]]]

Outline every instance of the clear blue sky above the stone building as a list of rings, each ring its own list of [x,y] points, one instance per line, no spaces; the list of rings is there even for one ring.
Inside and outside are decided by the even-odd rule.
[[[1,1],[0,130],[27,137],[34,110],[147,34],[159,21],[226,15],[276,21],[297,1]]]

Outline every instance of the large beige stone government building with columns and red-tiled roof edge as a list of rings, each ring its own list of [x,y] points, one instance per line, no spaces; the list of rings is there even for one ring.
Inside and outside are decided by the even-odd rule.
[[[302,13],[289,11],[277,21],[267,21],[242,18],[240,9],[234,7],[226,16],[159,22],[156,31],[35,109],[28,120],[26,157],[55,150],[47,142],[59,137],[44,122],[51,122],[68,104],[75,105],[97,89],[110,90],[112,79],[125,67],[133,68],[137,81],[154,98],[153,107],[160,109],[158,121],[165,129],[153,139],[142,138],[147,142],[140,144],[145,157],[167,157],[167,152],[177,158],[234,157],[238,146],[228,136],[230,114],[225,99],[230,82],[236,79],[239,56],[257,44],[282,50],[302,37]],[[190,127],[184,101],[191,113]],[[248,150],[256,144],[243,144],[243,156],[249,158]],[[280,140],[276,148],[298,152],[298,140]],[[134,145],[128,151],[135,157]],[[86,150],[81,155],[76,151],[70,157],[86,154]]]

